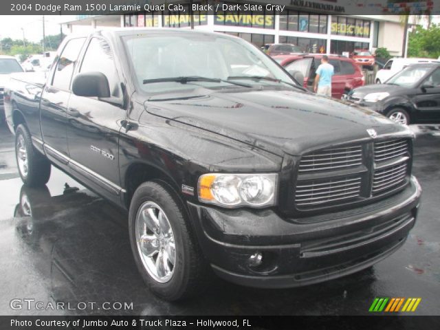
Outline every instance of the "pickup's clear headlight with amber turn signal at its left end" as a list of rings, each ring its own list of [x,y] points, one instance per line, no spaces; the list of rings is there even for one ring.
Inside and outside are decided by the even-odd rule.
[[[199,178],[199,201],[226,208],[273,206],[276,202],[277,183],[276,173],[205,174]]]

